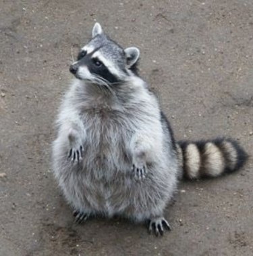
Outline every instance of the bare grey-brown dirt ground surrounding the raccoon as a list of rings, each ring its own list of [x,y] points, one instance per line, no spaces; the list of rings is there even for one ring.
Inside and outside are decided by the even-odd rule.
[[[178,140],[225,135],[252,155],[252,0],[0,0],[0,255],[253,255],[252,161],[182,182],[156,238],[121,219],[73,222],[51,173],[69,64],[99,21],[141,51]]]

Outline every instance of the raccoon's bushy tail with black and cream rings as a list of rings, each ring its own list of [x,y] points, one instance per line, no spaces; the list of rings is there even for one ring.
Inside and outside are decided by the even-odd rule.
[[[218,177],[237,171],[247,161],[248,154],[235,140],[218,138],[176,144],[179,163],[187,179]]]

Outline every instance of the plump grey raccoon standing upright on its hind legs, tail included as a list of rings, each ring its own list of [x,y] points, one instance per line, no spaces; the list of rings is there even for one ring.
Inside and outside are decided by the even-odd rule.
[[[53,142],[53,172],[76,222],[119,215],[148,221],[157,236],[171,226],[163,211],[182,177],[233,172],[246,163],[225,138],[175,142],[159,102],[138,76],[140,51],[123,49],[99,23],[69,70]]]

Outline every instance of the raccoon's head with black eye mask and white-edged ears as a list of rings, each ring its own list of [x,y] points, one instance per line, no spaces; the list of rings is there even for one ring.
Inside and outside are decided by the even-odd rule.
[[[123,49],[109,39],[96,23],[92,39],[82,47],[77,61],[69,70],[77,79],[99,85],[123,83],[136,74],[140,51],[136,47]]]

